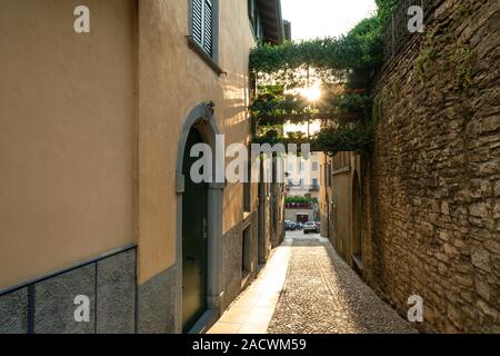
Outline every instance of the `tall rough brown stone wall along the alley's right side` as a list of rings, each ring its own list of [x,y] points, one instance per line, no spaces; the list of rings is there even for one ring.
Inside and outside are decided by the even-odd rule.
[[[363,275],[401,315],[420,295],[423,332],[500,333],[499,27],[442,1],[377,81]]]

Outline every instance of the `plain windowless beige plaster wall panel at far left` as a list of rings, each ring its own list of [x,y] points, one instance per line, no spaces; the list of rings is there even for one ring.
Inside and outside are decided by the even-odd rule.
[[[0,289],[134,241],[133,2],[78,4],[0,3]]]

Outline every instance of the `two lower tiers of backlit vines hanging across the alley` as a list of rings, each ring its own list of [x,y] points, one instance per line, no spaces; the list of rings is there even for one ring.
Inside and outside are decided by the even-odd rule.
[[[266,93],[250,107],[254,120],[256,144],[311,144],[319,151],[358,151],[370,148],[372,99],[364,89],[347,90],[323,98],[311,109],[301,98]],[[286,122],[301,123],[321,120],[319,132],[306,136],[302,131],[284,134]]]

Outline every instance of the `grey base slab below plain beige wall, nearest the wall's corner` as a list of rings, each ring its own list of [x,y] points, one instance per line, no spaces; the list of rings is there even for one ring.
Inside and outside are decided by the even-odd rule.
[[[136,251],[129,250],[97,265],[97,333],[136,332]]]

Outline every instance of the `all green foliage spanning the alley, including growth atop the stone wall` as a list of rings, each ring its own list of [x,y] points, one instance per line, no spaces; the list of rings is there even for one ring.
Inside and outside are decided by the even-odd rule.
[[[329,152],[369,150],[373,135],[370,81],[382,63],[383,26],[399,0],[376,0],[378,13],[360,21],[338,38],[263,44],[250,53],[250,71],[267,85],[250,106],[256,126],[254,142],[303,144]],[[290,89],[309,85],[310,70],[323,89],[321,100],[311,106]],[[328,86],[343,83],[336,92]],[[330,120],[313,137],[283,134],[288,120]]]

